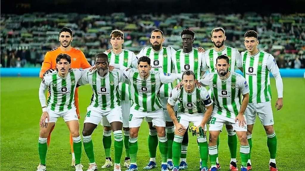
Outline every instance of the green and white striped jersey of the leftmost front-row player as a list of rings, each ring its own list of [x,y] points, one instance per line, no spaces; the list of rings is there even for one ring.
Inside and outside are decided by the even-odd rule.
[[[68,75],[62,78],[57,71],[44,76],[39,87],[39,100],[41,107],[47,106],[48,109],[62,112],[75,109],[74,92],[77,82],[87,71],[81,69],[70,69]],[[49,97],[45,102],[45,90],[48,89]]]

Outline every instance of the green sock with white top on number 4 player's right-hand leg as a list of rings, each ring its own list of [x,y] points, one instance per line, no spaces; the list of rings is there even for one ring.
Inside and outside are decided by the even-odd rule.
[[[122,130],[113,131],[114,137],[114,163],[120,164],[123,153],[123,132]]]

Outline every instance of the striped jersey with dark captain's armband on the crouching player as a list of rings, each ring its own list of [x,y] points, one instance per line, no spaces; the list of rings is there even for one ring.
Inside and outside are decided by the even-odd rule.
[[[175,106],[177,101],[179,101],[178,111],[189,114],[203,114],[205,106],[213,104],[208,91],[204,87],[195,87],[191,93],[186,92],[183,87],[179,90],[173,89],[167,103]]]

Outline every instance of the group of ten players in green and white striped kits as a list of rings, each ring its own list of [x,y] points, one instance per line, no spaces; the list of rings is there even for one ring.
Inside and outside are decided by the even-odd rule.
[[[64,32],[60,32],[59,37],[62,36],[61,33]],[[226,37],[222,28],[213,29],[211,36],[214,48],[207,51],[201,47],[193,48],[195,33],[184,29],[181,32],[182,49],[175,51],[172,47],[162,46],[163,32],[156,29],[151,32],[149,39],[152,47],[145,47],[135,55],[132,51],[122,49],[124,33],[113,30],[110,34],[113,48],[97,54],[95,67],[84,70],[72,69],[73,60],[68,54],[57,55],[56,71],[48,70],[44,74],[39,89],[43,113],[38,141],[40,164],[37,171],[46,170],[47,136],[58,117],[63,117],[70,129],[75,169],[82,171],[82,143],[74,96],[77,87],[86,84],[91,86],[93,92],[82,131],[84,150],[90,161],[87,171],[97,170],[91,134],[99,123],[104,126],[103,145],[106,155],[102,168],[112,166],[112,131],[115,140],[114,171],[121,170],[123,146],[127,171],[138,170],[138,131],[144,118],[149,124],[150,157],[144,169],[156,167],[158,144],[161,171],[186,169],[188,129],[197,135],[200,170],[220,169],[218,136],[225,124],[231,154],[230,170],[238,170],[237,137],[240,141],[241,171],[251,170],[251,136],[256,114],[267,134],[269,169],[277,170],[269,79],[271,72],[276,80],[276,108],[279,110],[282,108],[283,84],[276,62],[271,54],[257,49],[259,42],[255,31],[246,32],[247,51],[241,54],[235,48],[224,46]],[[70,46],[72,40],[67,41],[68,45],[62,43],[64,41],[60,38],[59,41],[65,47]],[[244,76],[235,72],[236,67]],[[175,81],[178,85],[173,88]],[[49,92],[47,101],[44,94],[46,89]],[[188,128],[190,122],[194,126]],[[209,142],[206,139],[206,124],[209,125]],[[210,169],[207,166],[208,156]]]

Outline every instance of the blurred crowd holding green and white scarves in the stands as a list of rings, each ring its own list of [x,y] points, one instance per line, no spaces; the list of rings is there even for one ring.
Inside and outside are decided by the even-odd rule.
[[[1,67],[41,67],[47,51],[59,46],[58,31],[70,27],[72,47],[82,50],[89,62],[98,52],[111,48],[111,30],[124,32],[123,48],[136,54],[150,46],[151,30],[163,30],[163,46],[181,48],[180,32],[195,31],[195,47],[213,47],[210,32],[215,27],[226,31],[225,44],[245,51],[244,33],[256,30],[259,49],[274,55],[279,68],[305,68],[305,14],[257,13],[216,15],[212,13],[181,13],[177,15],[126,16],[113,13],[106,16],[77,13],[1,14]]]

